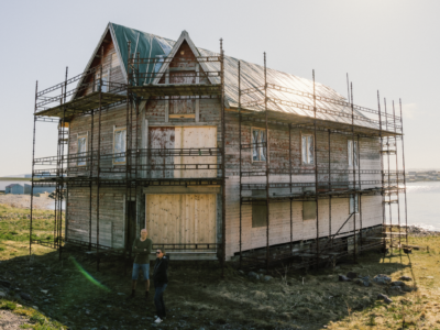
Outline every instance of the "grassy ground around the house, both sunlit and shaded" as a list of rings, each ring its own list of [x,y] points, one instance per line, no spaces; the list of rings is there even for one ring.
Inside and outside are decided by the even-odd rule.
[[[440,329],[439,237],[409,239],[429,251],[370,252],[336,270],[286,266],[268,282],[251,279],[233,264],[222,278],[218,263],[170,261],[167,319],[155,326],[154,288],[145,301],[140,283],[136,298],[127,300],[130,267],[121,262],[103,261],[97,272],[85,253],[65,252],[59,261],[57,251],[40,245],[30,257],[28,215],[0,205],[0,326],[15,322],[9,329]],[[35,217],[34,234],[53,238],[54,211]],[[413,280],[403,290],[339,282],[348,272]]]

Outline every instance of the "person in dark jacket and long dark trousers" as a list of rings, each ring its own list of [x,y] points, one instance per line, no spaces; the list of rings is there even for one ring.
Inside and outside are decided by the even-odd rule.
[[[157,319],[156,323],[161,323],[166,318],[165,304],[164,304],[164,292],[168,284],[168,258],[165,255],[164,249],[157,249],[156,262],[154,263],[153,271],[153,283],[155,288],[154,305],[156,305]]]

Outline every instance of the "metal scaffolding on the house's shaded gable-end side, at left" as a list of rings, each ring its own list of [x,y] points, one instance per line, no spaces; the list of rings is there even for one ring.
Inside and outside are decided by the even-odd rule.
[[[109,69],[109,65],[98,64],[85,73],[57,84],[42,91],[35,87],[34,109],[34,133],[33,133],[33,157],[32,157],[32,188],[31,188],[31,219],[30,219],[30,254],[32,244],[42,244],[62,251],[66,243],[73,248],[88,250],[97,260],[99,271],[100,260],[108,255],[119,255],[125,261],[131,260],[131,246],[124,249],[112,249],[100,243],[100,189],[107,187],[125,188],[125,200],[136,205],[140,188],[142,187],[188,187],[188,186],[221,186],[224,187],[224,66],[223,50],[220,42],[220,55],[198,56],[194,58],[179,57],[184,64],[209,63],[218,67],[217,70],[200,72],[196,74],[196,80],[207,77],[218,77],[219,84],[163,84],[156,81],[160,75],[157,72],[141,73],[140,65],[147,64],[155,67],[157,64],[169,64],[173,58],[141,58],[140,54],[131,52],[131,44],[128,43],[128,63],[125,84],[102,79],[102,73]],[[103,58],[103,47],[100,48],[100,58]],[[165,75],[166,76],[166,75]],[[96,79],[99,77],[99,79]],[[150,84],[141,84],[147,80]],[[67,101],[67,97],[72,97]],[[140,103],[153,100],[179,100],[217,98],[221,102],[221,135],[222,146],[201,148],[142,148],[140,141]],[[127,136],[124,151],[119,153],[105,152],[101,147],[102,116],[116,107],[125,106]],[[194,113],[193,113],[194,114]],[[86,152],[70,154],[68,152],[69,123],[73,117],[90,118],[90,136]],[[172,114],[173,116],[173,114]],[[57,154],[51,157],[35,158],[35,132],[37,122],[52,122],[58,124]],[[97,136],[94,136],[97,135]],[[97,145],[94,146],[94,140]],[[66,150],[67,147],[67,150]],[[179,156],[186,160],[216,157],[215,163],[209,162],[183,162],[182,164],[167,164],[165,160]],[[114,162],[114,160],[123,162]],[[146,160],[146,161],[145,161]],[[162,162],[163,161],[163,162]],[[116,164],[114,164],[116,163]],[[110,165],[109,165],[110,164]],[[42,168],[43,167],[43,168]],[[169,177],[167,173],[178,170],[186,173],[182,177]],[[215,170],[213,177],[199,177],[191,175],[200,170]],[[33,198],[34,187],[55,187],[55,221],[53,239],[36,238],[33,230]],[[68,238],[66,241],[67,226],[63,211],[63,201],[68,199],[69,188],[89,188],[88,201],[88,242]],[[154,246],[162,246],[167,251],[213,251],[219,255],[223,265],[224,252],[224,189],[222,188],[222,241],[209,243],[164,243],[157,242]],[[67,191],[67,194],[66,194]],[[96,195],[95,195],[96,194]],[[94,210],[94,195],[96,196],[96,208]],[[125,202],[125,201],[124,201]],[[68,211],[68,208],[67,208]],[[125,207],[125,219],[140,217],[139,211]],[[92,235],[92,219],[96,219],[96,235]],[[63,229],[65,231],[63,231]],[[131,228],[130,230],[134,230]],[[129,241],[130,230],[125,232],[125,242]]]

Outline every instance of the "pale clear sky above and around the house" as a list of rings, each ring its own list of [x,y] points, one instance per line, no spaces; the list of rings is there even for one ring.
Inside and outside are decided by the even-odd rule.
[[[0,176],[31,173],[35,80],[46,88],[85,69],[107,23],[311,78],[377,108],[403,99],[407,168],[440,168],[440,1],[2,1]],[[56,124],[37,124],[36,156],[56,155]]]

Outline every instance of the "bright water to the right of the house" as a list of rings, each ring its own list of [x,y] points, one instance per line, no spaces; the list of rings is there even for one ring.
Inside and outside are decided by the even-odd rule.
[[[400,223],[405,223],[405,195],[400,194]],[[440,182],[407,184],[408,224],[440,231]],[[393,223],[397,223],[397,206],[392,208]],[[389,212],[386,208],[387,222]]]

